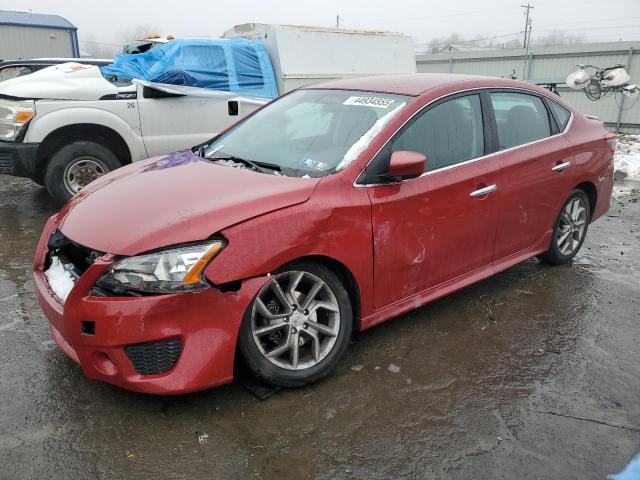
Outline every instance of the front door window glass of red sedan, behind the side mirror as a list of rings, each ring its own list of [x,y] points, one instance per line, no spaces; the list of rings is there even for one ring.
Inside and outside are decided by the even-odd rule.
[[[427,156],[427,171],[484,155],[479,95],[447,100],[427,110],[393,141],[392,151],[411,150]]]

